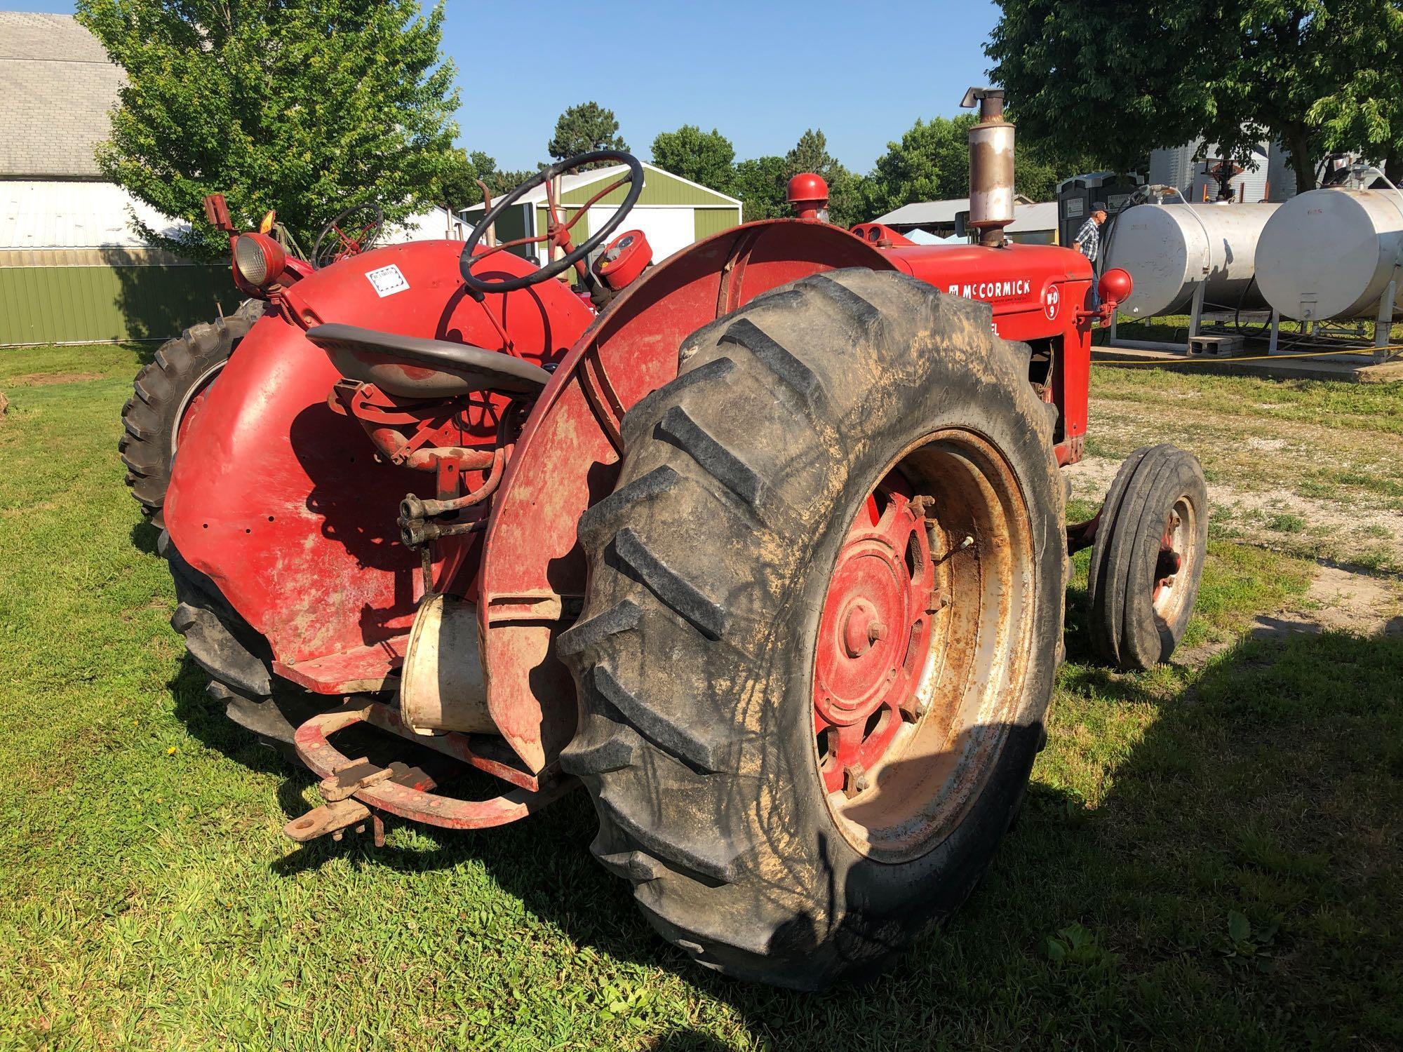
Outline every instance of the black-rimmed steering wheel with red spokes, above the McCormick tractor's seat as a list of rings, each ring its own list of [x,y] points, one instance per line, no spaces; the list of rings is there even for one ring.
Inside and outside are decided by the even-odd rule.
[[[564,175],[567,171],[575,171],[586,164],[593,164],[596,161],[616,161],[619,164],[627,164],[629,171],[620,175],[617,180],[610,182],[602,191],[595,194],[589,201],[579,206],[574,216],[570,217],[568,223],[560,222],[558,202],[556,201],[554,180],[557,175]],[[478,243],[483,240],[483,234],[487,231],[492,223],[502,217],[502,215],[521,201],[526,194],[536,189],[540,184],[546,184],[546,206],[550,213],[547,220],[546,233],[536,234],[535,237],[518,237],[515,241],[504,241],[502,244],[492,245],[485,252],[480,255],[473,255],[473,250],[477,248]],[[619,187],[629,184],[629,194],[623,203],[613,213],[613,216],[603,224],[603,227],[589,236],[581,245],[572,245],[570,241],[570,230],[579,222],[581,216],[589,212],[591,206],[595,205],[606,194],[612,194],[619,189]],[[636,203],[638,203],[638,195],[643,192],[643,166],[638,159],[631,153],[623,153],[622,150],[593,150],[592,153],[581,153],[575,157],[567,157],[563,161],[551,164],[549,168],[542,168],[526,182],[521,184],[516,189],[508,194],[505,198],[499,199],[492,208],[483,216],[481,222],[473,227],[473,233],[469,236],[467,243],[463,245],[463,254],[457,259],[457,268],[463,274],[463,283],[474,299],[483,299],[490,292],[516,292],[518,289],[526,289],[532,285],[540,285],[540,282],[550,281],[558,274],[568,271],[574,267],[579,271],[581,278],[585,276],[585,257],[589,255],[595,248],[602,245],[609,236],[619,229],[623,223],[624,216],[629,215]],[[574,206],[572,206],[574,208]],[[563,248],[565,254],[554,259],[539,271],[533,271],[523,278],[498,278],[495,281],[484,281],[473,274],[473,267],[480,261],[485,259],[492,252],[499,252],[504,248],[518,248],[523,244],[536,244],[537,241],[550,241],[551,244]]]

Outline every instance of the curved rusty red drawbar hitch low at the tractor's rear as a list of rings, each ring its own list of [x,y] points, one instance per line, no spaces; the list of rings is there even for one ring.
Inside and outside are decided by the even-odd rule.
[[[362,722],[494,774],[512,788],[491,800],[459,800],[434,793],[435,780],[419,767],[400,762],[380,767],[363,756],[351,759],[330,736]],[[379,847],[384,843],[384,815],[443,829],[487,829],[526,818],[578,784],[550,769],[532,774],[508,757],[509,750],[494,749],[491,739],[480,743],[463,734],[417,735],[394,708],[368,699],[352,699],[311,717],[297,728],[293,743],[302,762],[321,778],[317,790],[327,801],[283,826],[282,832],[297,843],[327,833],[340,840],[347,829],[363,832],[369,825]]]

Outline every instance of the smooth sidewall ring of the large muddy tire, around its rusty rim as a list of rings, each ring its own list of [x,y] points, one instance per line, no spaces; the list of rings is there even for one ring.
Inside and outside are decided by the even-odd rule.
[[[885,957],[894,945],[911,938],[912,924],[925,926],[953,912],[984,874],[1037,755],[1062,633],[1062,483],[1051,457],[1049,436],[1044,433],[1047,414],[1031,391],[981,379],[960,355],[940,348],[923,353],[933,360],[916,398],[891,382],[874,384],[867,398],[870,412],[856,418],[864,426],[847,428],[850,449],[859,456],[850,464],[842,504],[824,516],[826,526],[801,564],[805,569],[791,582],[793,600],[779,613],[786,630],[774,634],[776,645],[769,655],[783,669],[787,685],[774,717],[786,760],[784,788],[794,797],[797,828],[790,832],[805,842],[801,857],[824,863],[805,877],[831,884],[822,893],[831,896],[829,916],[839,923],[833,948],[843,958],[845,971],[853,966],[853,958],[875,962]],[[1007,728],[985,783],[958,825],[915,858],[874,861],[843,836],[817,769],[812,685],[818,626],[839,550],[861,504],[897,454],[947,428],[974,432],[1003,453],[1028,511],[1035,569],[1024,689],[1014,725]],[[881,933],[888,923],[901,929],[890,938]]]

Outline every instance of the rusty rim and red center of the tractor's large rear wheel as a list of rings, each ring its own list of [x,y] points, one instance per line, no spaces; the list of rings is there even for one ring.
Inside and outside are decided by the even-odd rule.
[[[1017,717],[1033,529],[1007,460],[939,431],[882,471],[829,574],[814,655],[814,757],[845,839],[878,861],[958,825]]]

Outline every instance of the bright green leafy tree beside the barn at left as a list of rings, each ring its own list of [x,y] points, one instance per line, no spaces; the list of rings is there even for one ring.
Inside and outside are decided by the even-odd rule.
[[[453,66],[443,11],[415,0],[79,0],[77,18],[126,72],[102,173],[189,220],[173,241],[227,254],[206,194],[251,224],[268,209],[302,240],[348,205],[397,220],[431,199],[452,161]]]

